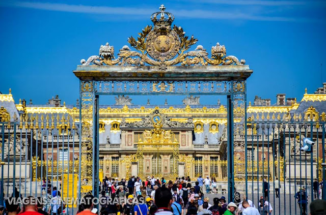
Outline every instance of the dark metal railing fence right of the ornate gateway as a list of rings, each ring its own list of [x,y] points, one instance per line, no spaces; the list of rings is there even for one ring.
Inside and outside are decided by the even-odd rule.
[[[250,118],[247,128],[245,179],[248,198],[259,204],[261,196],[265,196],[275,207],[272,214],[302,214],[303,207],[296,203],[301,197],[295,199],[294,196],[304,187],[308,196],[306,210],[315,198],[326,199],[326,189],[322,186],[325,184],[324,118],[303,121],[295,114],[283,120],[252,121]],[[315,144],[305,143],[305,138]],[[311,150],[303,148],[306,145]],[[266,164],[269,165],[266,167]],[[236,171],[235,166],[235,174]]]

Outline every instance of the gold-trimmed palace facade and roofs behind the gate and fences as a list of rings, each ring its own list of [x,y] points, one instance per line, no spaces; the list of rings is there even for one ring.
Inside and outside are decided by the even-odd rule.
[[[219,102],[218,105],[200,105],[199,99],[186,97],[180,105],[132,105],[128,96],[118,96],[115,105],[100,106],[99,166],[102,174],[114,178],[128,178],[131,175],[195,178],[210,175],[218,181],[226,180],[226,105]],[[16,103],[9,92],[0,94],[0,107],[0,121],[16,122],[17,125],[15,147],[13,130],[3,126],[2,138],[8,143],[8,148],[4,148],[5,160],[9,157],[10,165],[14,160],[26,161],[22,168],[27,171],[20,173],[25,174],[24,177],[35,180],[53,175],[58,177],[61,172],[75,173],[79,171],[79,162],[83,162],[81,171],[87,169],[87,162],[91,161],[87,155],[79,155],[78,103],[66,105],[58,96],[44,105],[28,104],[24,100]],[[243,180],[246,159],[252,164],[255,162],[255,166],[258,164],[258,170],[249,170],[255,171],[256,177],[259,177],[260,171],[265,171],[270,179],[278,174],[282,178],[284,165],[296,168],[282,158],[290,155],[289,158],[293,159],[293,156],[295,158],[301,153],[297,150],[300,143],[294,149],[298,138],[295,139],[290,130],[288,134],[286,130],[278,133],[287,135],[281,138],[284,142],[277,142],[276,146],[267,145],[267,139],[270,143],[273,139],[280,140],[275,137],[277,132],[257,128],[258,124],[252,121],[325,121],[325,112],[326,83],[314,94],[307,94],[306,91],[300,101],[278,94],[277,103],[271,104],[270,99],[256,96],[253,104],[249,103],[247,108],[247,158],[244,150],[246,136],[243,134],[234,139],[235,179]],[[314,127],[314,133],[316,129]],[[325,139],[321,132],[316,137],[319,143]],[[322,148],[321,144],[318,146],[318,150],[314,149],[317,150],[314,153],[314,171],[320,171],[318,162],[322,158]],[[274,169],[275,162],[279,161],[276,157],[282,157],[282,168],[277,166]],[[31,173],[30,168],[33,170]],[[276,171],[269,171],[271,169]],[[12,173],[8,175],[13,177]],[[290,179],[290,173],[287,175]]]

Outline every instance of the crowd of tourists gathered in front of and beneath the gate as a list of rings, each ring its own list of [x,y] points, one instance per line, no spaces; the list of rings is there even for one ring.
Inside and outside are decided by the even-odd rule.
[[[214,197],[212,205],[209,203],[207,194],[216,194],[216,181],[214,178],[198,177],[195,186],[192,186],[191,178],[181,177],[174,181],[167,181],[165,178],[155,178],[148,176],[145,180],[140,177],[130,177],[129,180],[116,180],[105,177],[100,183],[100,198],[98,206],[100,211],[93,208],[94,197],[89,194],[80,201],[77,213],[80,215],[269,215],[273,207],[267,201],[269,185],[263,181],[264,195],[259,199],[258,207],[253,201],[242,195],[234,189],[234,201],[227,202],[224,196]],[[27,197],[26,203],[20,204],[12,202],[11,198],[20,197],[17,189],[12,196],[4,202],[6,206],[0,205],[0,215],[69,215],[69,209],[61,199],[60,191],[57,187],[51,187],[48,184],[42,186],[42,197]],[[215,189],[214,189],[215,188]],[[266,188],[266,190],[265,190]],[[205,194],[204,194],[204,192]],[[267,195],[265,195],[267,193]],[[214,196],[214,195],[213,195]],[[44,200],[44,197],[47,201]],[[301,214],[306,214],[307,194],[305,188],[300,189],[294,196],[301,208]],[[114,201],[113,199],[118,199]],[[32,201],[34,200],[34,201]],[[122,200],[122,201],[121,201]],[[326,202],[323,200],[319,204],[311,204],[311,214],[326,214]],[[315,202],[314,201],[314,202]],[[42,203],[43,202],[43,203]],[[320,207],[320,204],[323,205]],[[318,207],[319,205],[319,207]],[[317,209],[314,209],[316,207]],[[21,210],[22,209],[22,210]],[[21,211],[20,211],[21,210]],[[324,213],[314,213],[314,211],[323,211]]]

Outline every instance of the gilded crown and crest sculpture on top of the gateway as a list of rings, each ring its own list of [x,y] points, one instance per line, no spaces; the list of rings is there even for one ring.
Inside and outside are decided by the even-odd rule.
[[[114,56],[114,47],[106,43],[101,45],[98,55],[90,56],[87,60],[82,59],[82,65],[120,65],[120,66],[157,66],[159,70],[166,70],[167,66],[181,64],[191,65],[244,65],[244,59],[226,55],[224,45],[216,43],[211,48],[211,57],[206,49],[198,45],[194,51],[187,51],[197,43],[194,36],[185,35],[182,27],[173,25],[174,15],[165,11],[164,5],[159,7],[159,12],[151,15],[152,25],[147,25],[137,39],[132,36],[128,43],[137,51],[133,51],[125,45]],[[187,51],[187,52],[186,52]]]

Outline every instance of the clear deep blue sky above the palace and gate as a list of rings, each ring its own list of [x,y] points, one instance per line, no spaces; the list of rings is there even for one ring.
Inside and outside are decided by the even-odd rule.
[[[210,50],[219,42],[228,55],[246,59],[254,70],[247,83],[248,100],[258,95],[275,103],[278,93],[301,100],[305,87],[313,93],[326,82],[326,1],[94,3],[0,1],[0,91],[7,94],[11,87],[16,102],[22,98],[45,104],[59,95],[74,104],[78,79],[72,71],[80,59],[98,54],[106,42],[117,54],[128,37],[152,24],[150,15],[160,4],[174,14],[174,24],[199,40],[193,49],[203,45]],[[140,104],[147,98],[135,100]],[[164,100],[153,98],[151,103]]]

